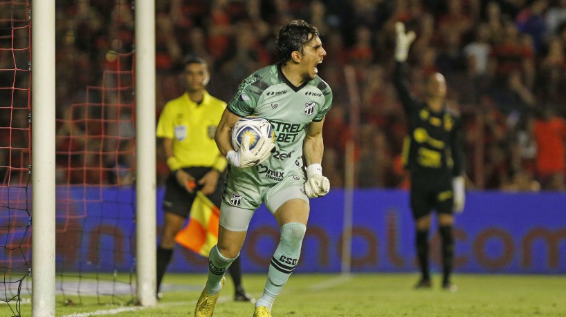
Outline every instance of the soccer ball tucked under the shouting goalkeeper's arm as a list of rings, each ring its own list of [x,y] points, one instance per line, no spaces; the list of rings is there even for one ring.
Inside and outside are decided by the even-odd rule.
[[[271,124],[261,117],[243,117],[232,128],[232,147],[239,151],[241,139],[244,135],[250,136],[250,148],[253,148],[261,137],[271,137],[275,140],[275,133]]]

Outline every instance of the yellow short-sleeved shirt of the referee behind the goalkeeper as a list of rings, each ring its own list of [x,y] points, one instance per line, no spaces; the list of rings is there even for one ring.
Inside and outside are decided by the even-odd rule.
[[[228,163],[214,142],[214,133],[224,108],[226,102],[206,91],[201,104],[192,102],[188,93],[165,104],[156,135],[173,140],[174,160],[167,160],[172,171],[190,166],[212,166],[219,171],[226,169]]]

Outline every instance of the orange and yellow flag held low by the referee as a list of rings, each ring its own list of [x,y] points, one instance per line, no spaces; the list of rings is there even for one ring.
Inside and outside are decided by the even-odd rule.
[[[208,257],[210,249],[218,242],[219,215],[220,209],[206,195],[197,191],[189,222],[177,233],[175,241],[194,253]]]

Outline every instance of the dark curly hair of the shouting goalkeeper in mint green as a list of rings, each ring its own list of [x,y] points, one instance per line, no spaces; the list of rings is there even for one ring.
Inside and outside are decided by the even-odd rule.
[[[291,59],[291,52],[298,50],[302,54],[304,44],[309,43],[320,33],[318,28],[304,20],[293,20],[279,30],[277,48],[279,49],[279,63],[284,65]]]

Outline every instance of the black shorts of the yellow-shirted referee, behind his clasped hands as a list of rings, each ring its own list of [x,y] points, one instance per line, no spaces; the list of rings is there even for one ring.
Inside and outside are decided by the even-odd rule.
[[[183,171],[189,173],[194,177],[195,180],[200,180],[208,171],[210,167],[188,167],[184,168]],[[216,191],[212,195],[207,197],[211,202],[220,206],[221,200],[221,187],[222,187],[222,177],[220,177],[219,184],[216,186]],[[202,189],[202,185],[198,185],[195,188],[196,191]],[[168,213],[174,213],[180,215],[183,218],[187,218],[192,202],[196,197],[196,192],[189,193],[184,187],[179,185],[177,182],[175,174],[170,173],[165,181],[165,196],[163,197],[163,211]]]

